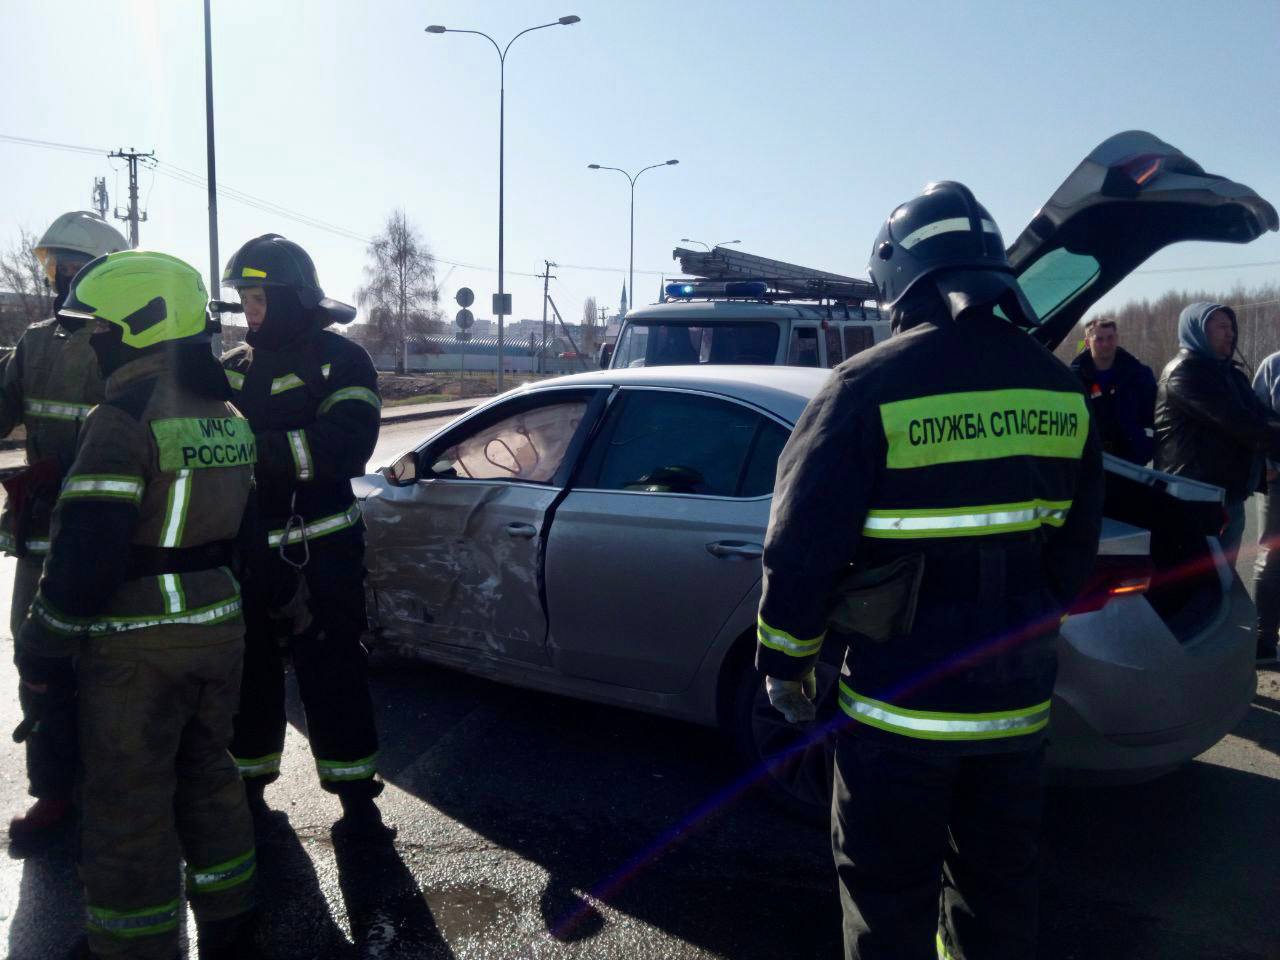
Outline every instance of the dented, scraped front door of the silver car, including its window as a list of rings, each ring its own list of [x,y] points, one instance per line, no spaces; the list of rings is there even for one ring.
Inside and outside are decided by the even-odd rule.
[[[413,456],[408,483],[365,499],[376,620],[401,643],[545,660],[547,513],[602,389],[493,404]]]

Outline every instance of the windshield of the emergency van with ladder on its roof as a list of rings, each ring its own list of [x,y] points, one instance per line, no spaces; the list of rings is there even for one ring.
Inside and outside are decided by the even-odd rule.
[[[618,340],[613,366],[768,365],[777,362],[778,335],[778,325],[771,320],[707,326],[631,321]]]

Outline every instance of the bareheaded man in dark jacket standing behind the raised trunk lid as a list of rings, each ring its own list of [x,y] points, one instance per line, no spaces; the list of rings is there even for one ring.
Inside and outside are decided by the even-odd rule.
[[[1094,317],[1084,328],[1085,349],[1071,361],[1084,384],[1102,449],[1133,463],[1149,463],[1156,413],[1156,375],[1120,346],[1116,321]]]

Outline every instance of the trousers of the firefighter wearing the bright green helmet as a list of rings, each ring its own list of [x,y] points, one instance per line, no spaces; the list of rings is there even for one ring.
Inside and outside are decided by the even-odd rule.
[[[177,955],[179,860],[197,920],[252,906],[253,822],[227,751],[242,655],[238,637],[154,649],[122,634],[82,649],[81,877],[95,955]]]

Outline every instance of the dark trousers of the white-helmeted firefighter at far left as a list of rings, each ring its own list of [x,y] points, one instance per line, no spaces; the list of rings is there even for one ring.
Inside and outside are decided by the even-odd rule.
[[[18,636],[27,618],[31,602],[40,586],[44,557],[22,557],[13,579],[13,604],[9,608],[9,626]],[[40,726],[24,744],[27,749],[27,792],[35,797],[70,800],[76,787],[76,684],[50,687],[44,696]],[[35,696],[24,686],[18,686],[18,701],[23,713],[31,710]]]

